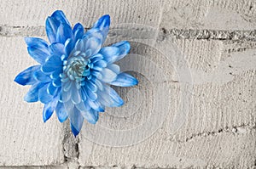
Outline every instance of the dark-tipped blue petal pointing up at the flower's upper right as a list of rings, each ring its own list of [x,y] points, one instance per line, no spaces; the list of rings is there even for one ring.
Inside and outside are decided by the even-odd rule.
[[[93,25],[93,28],[96,28],[102,31],[102,36],[103,36],[102,43],[105,42],[105,39],[108,36],[109,25],[110,25],[110,16],[108,14],[103,15]]]

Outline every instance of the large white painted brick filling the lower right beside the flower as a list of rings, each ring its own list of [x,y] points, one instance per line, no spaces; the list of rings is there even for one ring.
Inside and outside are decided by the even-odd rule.
[[[164,45],[165,42],[159,43]],[[180,98],[181,83],[172,82],[173,69],[163,55],[154,49],[147,49],[142,44],[133,44],[132,53],[147,54],[148,59],[141,61],[131,61],[125,59],[120,61],[120,65],[133,65],[138,68],[143,75],[137,75],[140,83],[137,88],[143,93],[146,103],[142,99],[137,100],[137,95],[126,94],[127,89],[119,89],[120,95],[125,99],[125,107],[118,109],[108,109],[102,114],[96,126],[85,123],[81,135],[79,135],[79,164],[82,166],[138,166],[138,167],[235,167],[246,168],[254,164],[256,143],[255,131],[255,68],[247,66],[249,62],[254,63],[255,49],[247,52],[230,53],[225,57],[225,46],[218,41],[194,41],[180,40],[177,42],[181,51],[186,54],[189,67],[194,71],[193,76],[198,71],[204,71],[205,75],[228,76],[226,72],[233,72],[232,78],[226,81],[213,82],[201,80],[194,82],[190,109],[183,125],[173,132],[172,121],[177,115],[178,106],[183,100]],[[237,57],[239,55],[239,57]],[[200,56],[202,59],[200,59]],[[241,58],[246,58],[247,65],[243,65]],[[131,63],[129,62],[131,61]],[[136,60],[136,59],[134,59]],[[162,72],[168,76],[167,82],[150,83],[147,78],[156,74],[151,61],[161,66]],[[231,60],[231,62],[230,62]],[[241,67],[234,65],[229,67],[229,63],[239,63]],[[211,66],[209,66],[211,64]],[[219,66],[226,65],[222,69],[222,74],[214,74]],[[232,65],[232,64],[231,64]],[[253,65],[253,64],[252,64]],[[147,68],[152,69],[147,69]],[[229,74],[229,73],[228,73]],[[147,76],[146,76],[147,75]],[[148,76],[149,75],[149,76]],[[230,75],[230,74],[229,74]],[[204,76],[201,76],[204,78]],[[158,92],[162,98],[154,95],[154,88],[159,88]],[[128,89],[129,90],[129,89]],[[170,94],[166,100],[165,94]],[[150,94],[153,94],[150,96]],[[154,99],[160,99],[153,101]],[[150,101],[149,101],[150,100]],[[159,104],[161,103],[161,104]],[[155,110],[152,112],[152,105]],[[135,108],[133,108],[133,106]],[[113,131],[128,130],[144,125],[148,116],[152,114],[163,115],[162,111],[167,111],[165,122],[158,127],[152,136],[142,139],[140,143],[137,138],[143,132],[137,129],[133,135],[120,135],[114,137]],[[130,113],[125,118],[119,115]],[[134,113],[134,114],[132,114]],[[119,117],[118,117],[119,116]],[[152,122],[152,125],[158,125]],[[113,131],[94,132],[94,127],[107,127]],[[238,127],[239,131],[234,132]],[[242,128],[242,130],[241,130]],[[88,134],[90,133],[90,134]],[[102,134],[102,139],[97,139],[97,134]],[[95,140],[92,137],[95,136]],[[116,141],[118,140],[118,141]],[[122,141],[123,140],[123,141]],[[125,147],[106,146],[106,143],[125,142]],[[103,143],[103,144],[102,144]]]

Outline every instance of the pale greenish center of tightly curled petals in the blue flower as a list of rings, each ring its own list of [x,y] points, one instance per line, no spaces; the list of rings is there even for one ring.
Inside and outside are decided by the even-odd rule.
[[[71,81],[82,82],[90,79],[90,59],[82,55],[73,56],[64,62],[63,71]]]

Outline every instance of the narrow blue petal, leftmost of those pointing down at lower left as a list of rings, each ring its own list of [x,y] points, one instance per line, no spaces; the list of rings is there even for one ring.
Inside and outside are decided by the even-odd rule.
[[[43,110],[43,120],[46,122],[49,117],[53,114],[55,111],[56,105],[58,103],[59,97],[56,96],[54,99],[52,99],[51,102],[48,104],[44,104],[44,110]]]

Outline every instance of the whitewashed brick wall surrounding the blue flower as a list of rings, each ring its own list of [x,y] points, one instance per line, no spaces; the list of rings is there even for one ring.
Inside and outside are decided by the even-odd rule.
[[[14,82],[36,63],[23,37],[46,38],[55,9],[85,28],[110,14],[139,80],[77,138]],[[0,46],[0,168],[256,168],[253,0],[1,0]]]

